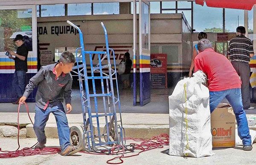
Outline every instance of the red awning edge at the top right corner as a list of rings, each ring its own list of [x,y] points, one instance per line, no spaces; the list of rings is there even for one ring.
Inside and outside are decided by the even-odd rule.
[[[202,6],[204,6],[204,2],[208,7],[243,10],[251,10],[256,4],[256,0],[195,0],[196,4]]]

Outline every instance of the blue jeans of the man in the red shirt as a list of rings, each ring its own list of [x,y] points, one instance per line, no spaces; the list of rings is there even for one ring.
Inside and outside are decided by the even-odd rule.
[[[210,91],[210,111],[211,113],[218,106],[218,104],[227,98],[236,115],[236,122],[238,128],[238,135],[243,140],[243,145],[251,145],[251,136],[245,111],[242,103],[241,89],[233,88],[224,91]]]

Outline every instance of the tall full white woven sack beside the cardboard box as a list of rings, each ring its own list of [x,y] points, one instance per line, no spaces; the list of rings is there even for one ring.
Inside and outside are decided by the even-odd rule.
[[[198,71],[193,77],[180,80],[169,96],[170,155],[214,155],[209,90],[202,84],[205,79],[205,74]]]

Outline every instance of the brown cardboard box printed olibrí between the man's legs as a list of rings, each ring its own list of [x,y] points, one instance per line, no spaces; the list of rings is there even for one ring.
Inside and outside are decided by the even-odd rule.
[[[212,148],[234,147],[236,117],[229,104],[219,104],[211,114]]]

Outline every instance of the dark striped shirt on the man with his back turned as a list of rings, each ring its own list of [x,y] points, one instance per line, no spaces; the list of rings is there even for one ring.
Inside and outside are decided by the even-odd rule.
[[[231,61],[250,62],[250,54],[254,54],[252,41],[244,35],[238,35],[230,40],[227,55]]]

